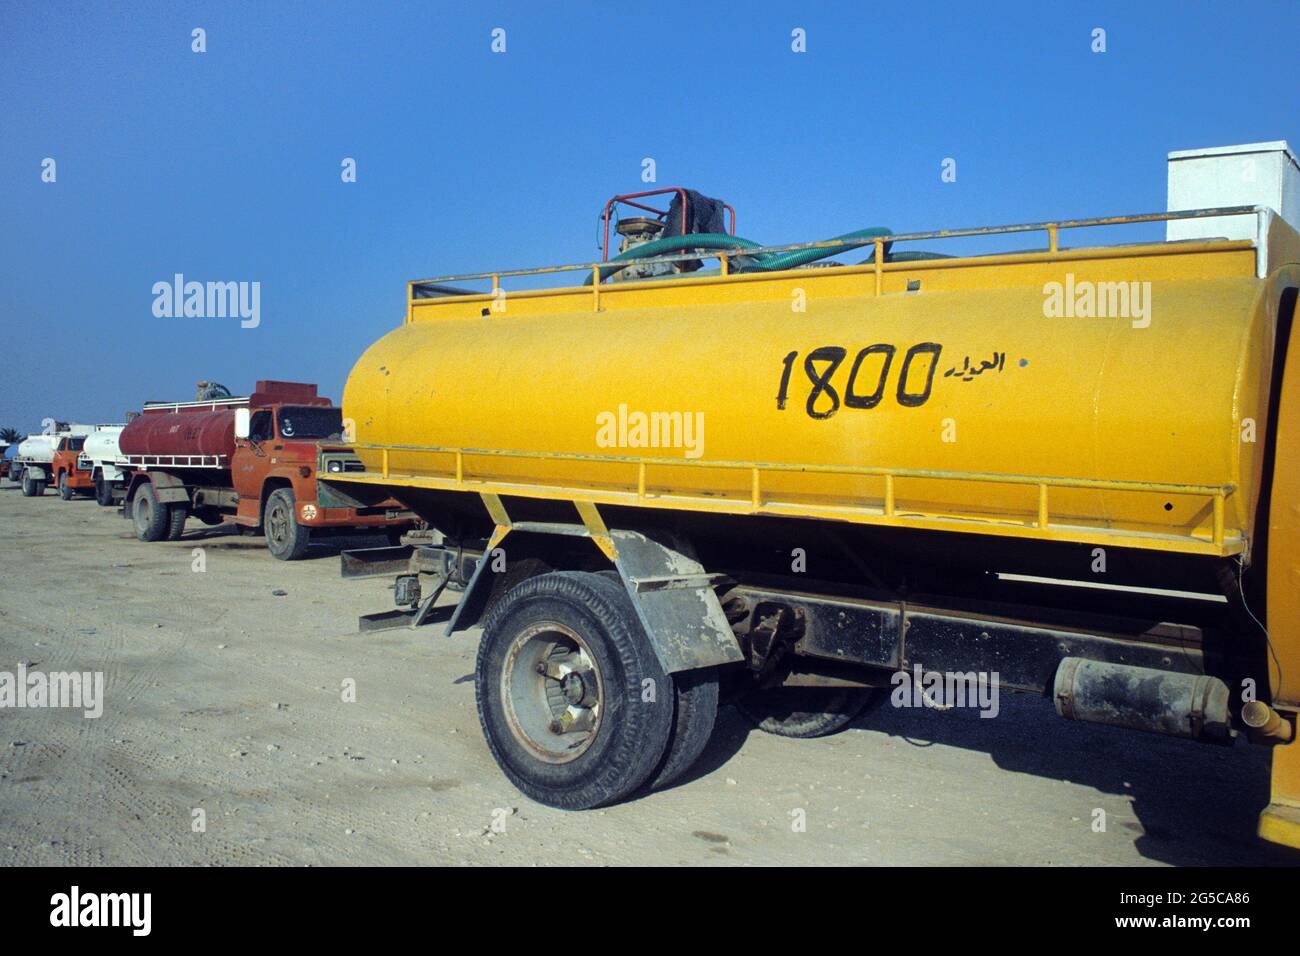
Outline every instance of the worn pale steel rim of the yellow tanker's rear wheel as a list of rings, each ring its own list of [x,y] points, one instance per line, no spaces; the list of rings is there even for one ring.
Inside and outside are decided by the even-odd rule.
[[[533,624],[506,652],[500,671],[506,724],[546,763],[568,763],[586,753],[601,732],[603,692],[595,656],[564,624]]]

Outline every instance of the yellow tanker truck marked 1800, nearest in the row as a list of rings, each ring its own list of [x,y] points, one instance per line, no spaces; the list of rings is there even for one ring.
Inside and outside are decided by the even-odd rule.
[[[363,626],[459,588],[488,744],[552,806],[677,780],[720,701],[815,736],[965,680],[1273,747],[1260,832],[1300,845],[1297,182],[1171,153],[1169,212],[780,247],[672,190],[611,200],[651,213],[618,256],[413,281],[334,488],[437,533],[344,555],[400,572]]]

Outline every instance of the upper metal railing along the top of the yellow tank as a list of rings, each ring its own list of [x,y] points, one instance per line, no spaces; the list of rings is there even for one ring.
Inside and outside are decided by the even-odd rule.
[[[970,229],[939,229],[926,233],[897,233],[893,235],[881,235],[871,242],[846,242],[844,239],[822,239],[819,242],[796,242],[785,246],[762,246],[758,248],[734,248],[734,250],[693,250],[688,252],[675,252],[672,255],[660,256],[647,256],[645,259],[619,259],[616,261],[599,261],[599,263],[572,263],[568,265],[541,265],[528,269],[494,269],[491,272],[465,272],[455,276],[439,276],[436,278],[416,278],[407,282],[407,302],[408,304],[430,304],[445,302],[447,299],[464,299],[472,297],[491,298],[500,291],[500,280],[510,278],[512,276],[546,276],[551,273],[562,272],[588,272],[592,273],[592,293],[599,295],[599,282],[601,273],[614,271],[621,271],[627,267],[633,265],[660,265],[672,264],[681,261],[694,261],[698,259],[718,259],[722,264],[722,273],[724,276],[729,274],[728,263],[731,259],[748,258],[758,255],[768,255],[772,252],[800,252],[810,248],[862,248],[864,246],[874,246],[874,264],[876,272],[881,269],[905,269],[915,268],[916,263],[887,263],[884,261],[884,247],[896,246],[900,242],[922,242],[930,239],[961,239],[976,235],[1009,235],[1014,233],[1045,233],[1046,246],[1040,252],[1061,254],[1060,235],[1063,229],[1087,229],[1093,226],[1115,226],[1115,225],[1135,225],[1140,222],[1167,222],[1174,220],[1188,220],[1188,219],[1221,219],[1228,216],[1261,216],[1266,213],[1268,209],[1261,206],[1225,206],[1212,209],[1183,209],[1178,212],[1144,212],[1130,216],[1104,216],[1100,219],[1070,219],[1070,220],[1056,220],[1050,222],[1023,222],[1017,225],[1005,226],[976,226]],[[1162,241],[1141,245],[1165,245]],[[1114,246],[1114,243],[1112,243]],[[1096,248],[1109,248],[1112,246],[1098,246]],[[988,252],[980,254],[988,256],[997,255],[1017,255],[1019,252]],[[962,260],[968,258],[979,256],[952,256],[953,260]],[[616,267],[616,268],[615,268]],[[450,294],[441,295],[432,299],[416,299],[413,293],[413,286],[417,285],[442,285],[447,282],[468,282],[473,280],[491,280],[491,290],[486,293],[464,293],[460,295]],[[576,286],[575,289],[582,289],[582,286]],[[520,290],[520,294],[526,294],[536,290]]]

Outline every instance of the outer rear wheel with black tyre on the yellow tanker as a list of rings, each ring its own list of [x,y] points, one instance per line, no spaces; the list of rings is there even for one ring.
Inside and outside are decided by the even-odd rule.
[[[627,592],[599,575],[529,578],[484,624],[474,700],[488,748],[547,806],[636,792],[668,745],[672,695]]]

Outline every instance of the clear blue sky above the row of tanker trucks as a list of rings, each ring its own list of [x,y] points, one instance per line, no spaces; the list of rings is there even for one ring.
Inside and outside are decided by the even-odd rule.
[[[1169,150],[1300,140],[1297,34],[1296,3],[5,0],[0,425],[199,378],[338,399],[406,280],[597,258],[647,156],[766,243],[1162,209]],[[261,324],[156,317],[178,272],[260,282]]]

